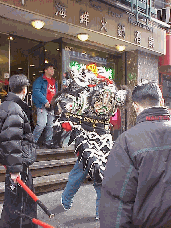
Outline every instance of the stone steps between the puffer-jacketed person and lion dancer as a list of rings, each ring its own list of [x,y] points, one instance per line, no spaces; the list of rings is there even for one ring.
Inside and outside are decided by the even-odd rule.
[[[38,149],[37,161],[30,166],[37,195],[64,189],[77,157],[74,148]],[[0,166],[0,202],[5,192],[5,168]],[[85,183],[88,183],[88,178]]]

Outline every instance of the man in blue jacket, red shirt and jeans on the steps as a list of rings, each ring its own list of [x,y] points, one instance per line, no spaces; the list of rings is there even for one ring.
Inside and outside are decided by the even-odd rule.
[[[38,142],[44,128],[45,146],[49,149],[54,148],[53,145],[53,121],[54,110],[51,108],[53,96],[58,92],[58,85],[53,78],[53,64],[45,65],[44,74],[37,78],[33,83],[33,102],[37,108],[37,124],[33,132],[35,143]]]

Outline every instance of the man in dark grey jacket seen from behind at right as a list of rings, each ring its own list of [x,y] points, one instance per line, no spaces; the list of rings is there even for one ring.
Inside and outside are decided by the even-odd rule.
[[[102,182],[100,227],[171,227],[171,122],[157,84],[132,93],[136,125],[116,140]]]

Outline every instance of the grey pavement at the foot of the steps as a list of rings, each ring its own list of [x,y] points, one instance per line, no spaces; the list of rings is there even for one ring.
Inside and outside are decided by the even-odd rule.
[[[65,211],[61,206],[62,191],[55,191],[38,196],[38,198],[55,214],[49,219],[38,206],[38,219],[55,228],[99,228],[99,221],[95,220],[96,193],[92,184],[84,184],[74,197],[73,206]],[[2,204],[0,204],[0,213]]]

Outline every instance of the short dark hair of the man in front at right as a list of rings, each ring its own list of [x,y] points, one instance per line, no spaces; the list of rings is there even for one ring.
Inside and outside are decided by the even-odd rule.
[[[156,82],[146,82],[135,86],[132,101],[144,106],[156,106],[162,98],[161,90]]]

